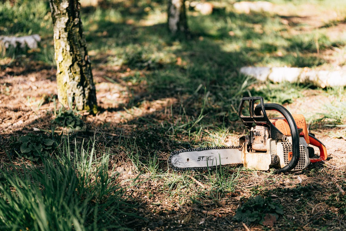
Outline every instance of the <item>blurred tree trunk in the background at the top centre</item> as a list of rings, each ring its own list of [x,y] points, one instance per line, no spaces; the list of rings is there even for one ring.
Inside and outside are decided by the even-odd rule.
[[[188,36],[189,29],[186,19],[185,0],[169,0],[168,28],[173,36]]]

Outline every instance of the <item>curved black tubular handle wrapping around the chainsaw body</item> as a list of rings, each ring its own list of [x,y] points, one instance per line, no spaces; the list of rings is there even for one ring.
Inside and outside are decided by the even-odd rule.
[[[292,169],[295,168],[295,166],[297,166],[298,161],[299,161],[299,156],[300,156],[300,152],[299,152],[299,132],[298,132],[298,128],[297,128],[297,124],[295,124],[294,118],[291,115],[291,113],[282,105],[280,104],[273,104],[273,103],[267,103],[267,104],[263,104],[262,105],[257,105],[255,108],[255,114],[259,115],[260,112],[262,111],[262,108],[264,107],[265,110],[275,110],[279,113],[281,113],[283,115],[283,117],[285,117],[290,130],[291,130],[291,135],[292,135],[292,159],[291,161],[288,163],[288,165],[286,165],[285,167],[277,170],[277,173],[281,173],[281,172],[288,172],[291,171]],[[263,112],[264,114],[265,112]]]

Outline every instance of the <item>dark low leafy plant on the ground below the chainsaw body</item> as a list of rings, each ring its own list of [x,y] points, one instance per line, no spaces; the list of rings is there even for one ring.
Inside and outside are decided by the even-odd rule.
[[[236,211],[233,217],[236,221],[244,223],[263,223],[267,217],[275,217],[283,214],[283,206],[275,203],[270,197],[263,198],[260,195],[250,197]]]

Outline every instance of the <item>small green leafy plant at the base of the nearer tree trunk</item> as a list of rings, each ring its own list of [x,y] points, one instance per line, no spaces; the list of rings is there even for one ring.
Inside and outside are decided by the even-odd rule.
[[[52,123],[66,127],[69,131],[80,131],[84,127],[82,116],[74,113],[73,110],[60,110]]]

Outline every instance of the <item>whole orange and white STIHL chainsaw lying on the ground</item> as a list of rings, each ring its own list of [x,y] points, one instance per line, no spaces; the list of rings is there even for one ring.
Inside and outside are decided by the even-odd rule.
[[[283,117],[268,119],[266,111],[275,110]],[[203,170],[224,165],[240,165],[277,173],[294,172],[310,163],[327,159],[327,149],[308,132],[303,115],[293,114],[280,104],[264,103],[262,97],[244,97],[238,115],[248,134],[238,146],[181,149],[168,159],[174,170]],[[319,157],[315,149],[319,150]],[[316,149],[317,149],[316,148]]]

